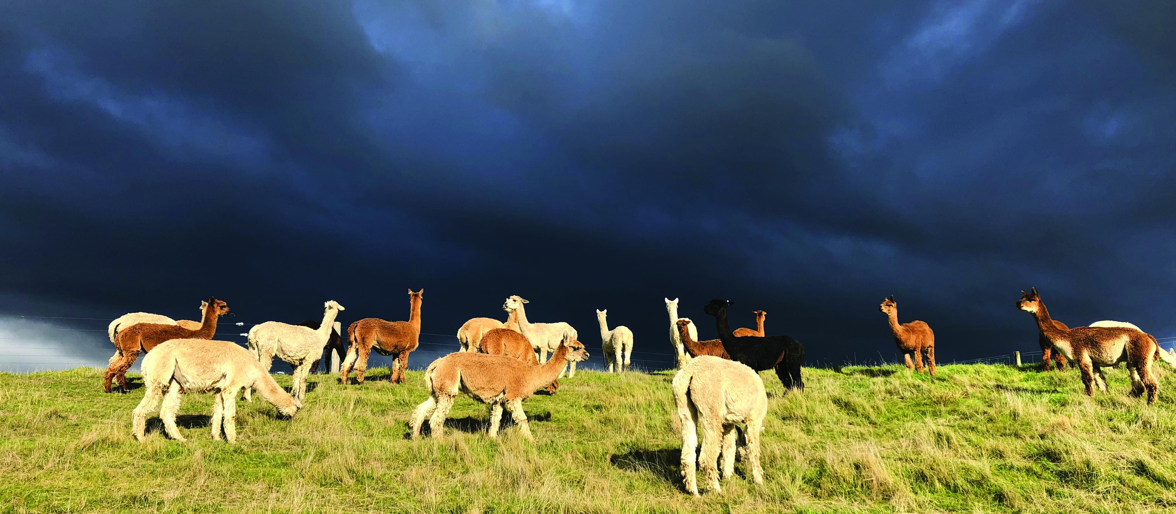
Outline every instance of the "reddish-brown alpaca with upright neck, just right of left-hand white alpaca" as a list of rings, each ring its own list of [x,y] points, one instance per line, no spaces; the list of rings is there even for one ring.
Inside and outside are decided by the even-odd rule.
[[[408,367],[408,354],[420,346],[421,338],[421,297],[425,290],[408,290],[408,320],[385,322],[380,318],[363,318],[347,327],[347,338],[352,341],[347,350],[347,360],[339,370],[339,379],[347,384],[347,374],[355,365],[355,379],[363,384],[363,372],[367,371],[367,359],[375,350],[381,356],[392,356],[393,384],[405,383],[405,368]]]

